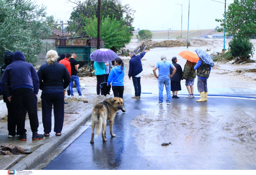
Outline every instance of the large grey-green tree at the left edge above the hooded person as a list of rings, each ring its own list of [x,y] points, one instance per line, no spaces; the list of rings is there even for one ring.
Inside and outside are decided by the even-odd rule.
[[[6,51],[21,51],[34,64],[51,30],[44,21],[45,6],[32,0],[0,0],[0,62]]]

